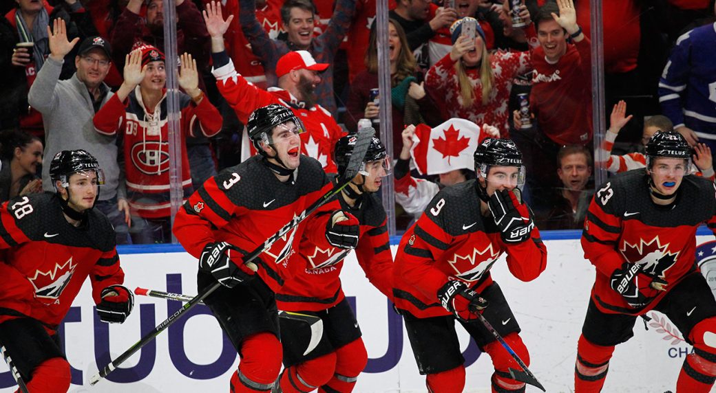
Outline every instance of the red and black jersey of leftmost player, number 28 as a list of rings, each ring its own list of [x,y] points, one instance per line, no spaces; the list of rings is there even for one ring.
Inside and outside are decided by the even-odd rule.
[[[90,210],[74,227],[55,194],[16,197],[0,207],[0,323],[16,317],[57,329],[84,280],[102,289],[124,282],[115,230],[104,214]]]

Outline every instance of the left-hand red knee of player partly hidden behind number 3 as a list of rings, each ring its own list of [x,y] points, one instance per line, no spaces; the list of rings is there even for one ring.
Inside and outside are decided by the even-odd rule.
[[[331,380],[335,369],[334,352],[296,364],[281,374],[281,390],[284,393],[313,392]]]

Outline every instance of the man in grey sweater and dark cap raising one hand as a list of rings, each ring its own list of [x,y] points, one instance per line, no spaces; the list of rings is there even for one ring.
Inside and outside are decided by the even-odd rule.
[[[50,55],[37,74],[28,94],[29,104],[42,113],[45,127],[45,151],[42,160],[42,188],[54,192],[49,178],[49,161],[62,150],[84,149],[97,157],[105,184],[96,207],[104,213],[117,232],[117,244],[127,243],[130,209],[124,182],[120,183],[116,138],[95,132],[92,117],[104,105],[112,91],[102,81],[112,59],[110,44],[101,37],[82,41],[74,58],[77,72],[59,81],[64,57],[79,39],[69,41],[63,20],[53,21],[49,34]]]

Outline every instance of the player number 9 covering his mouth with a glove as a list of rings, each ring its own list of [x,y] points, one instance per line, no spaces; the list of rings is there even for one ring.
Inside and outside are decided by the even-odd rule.
[[[475,150],[475,174],[478,179],[438,192],[403,235],[395,255],[395,304],[430,392],[463,392],[465,359],[455,319],[492,358],[493,392],[524,392],[525,384],[508,372],[521,367],[475,313],[529,364],[516,317],[490,268],[505,253],[510,272],[530,281],[544,271],[547,249],[518,197],[524,167],[513,141],[485,139]]]

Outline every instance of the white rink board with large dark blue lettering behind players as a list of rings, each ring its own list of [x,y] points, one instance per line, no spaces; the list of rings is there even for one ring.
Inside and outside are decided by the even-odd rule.
[[[699,244],[713,237],[699,237]],[[586,262],[579,240],[547,240],[546,271],[533,282],[520,282],[503,262],[493,267],[523,332],[531,354],[531,369],[548,392],[571,392],[576,342],[594,282],[594,268]],[[395,252],[397,246],[392,246]],[[706,247],[716,253],[716,243]],[[705,249],[705,247],[702,247]],[[195,294],[196,261],[185,252],[122,254],[127,287],[145,287],[168,292]],[[716,288],[716,261],[702,261],[702,270]],[[713,265],[713,266],[712,266]],[[712,272],[711,272],[712,270]],[[425,377],[415,366],[402,320],[387,300],[365,279],[351,254],[342,273],[344,291],[354,302],[369,362],[354,392],[425,392]],[[87,380],[162,322],[177,302],[137,297],[135,310],[122,325],[99,322],[91,301],[88,282],[82,288],[64,323],[67,359],[72,364],[70,392],[228,392],[228,380],[238,357],[223,337],[208,309],[195,307],[168,331],[95,387]],[[691,347],[661,314],[644,329],[637,321],[635,337],[617,347],[609,367],[604,392],[664,392],[674,390],[675,381]],[[465,392],[489,392],[492,365],[480,354],[462,329],[460,342],[469,364]],[[0,363],[0,393],[13,392],[11,377]],[[528,387],[528,392],[538,389]]]

